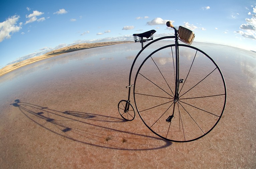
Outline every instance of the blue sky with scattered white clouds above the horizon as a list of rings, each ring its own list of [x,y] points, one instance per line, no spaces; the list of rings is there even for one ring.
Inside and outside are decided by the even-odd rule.
[[[0,68],[77,43],[133,40],[151,29],[170,35],[166,21],[193,30],[194,41],[256,51],[256,0],[7,0]]]

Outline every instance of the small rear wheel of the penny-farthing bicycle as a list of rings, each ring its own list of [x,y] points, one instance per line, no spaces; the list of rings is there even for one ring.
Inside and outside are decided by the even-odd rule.
[[[119,101],[118,111],[121,117],[126,121],[132,121],[135,118],[135,109],[128,100]]]

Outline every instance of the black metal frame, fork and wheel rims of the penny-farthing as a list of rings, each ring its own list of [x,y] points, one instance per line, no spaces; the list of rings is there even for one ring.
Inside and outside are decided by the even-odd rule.
[[[138,110],[138,108],[137,108],[137,105],[136,105],[136,100],[135,100],[135,88],[134,88],[134,101],[135,101],[135,105],[136,105],[136,110],[137,110],[137,112],[139,113],[139,115],[140,115],[142,121],[144,122],[144,124],[145,124],[153,133],[155,133],[156,135],[160,136],[161,138],[164,138],[164,139],[169,140],[169,141],[175,141],[175,142],[194,141],[194,140],[199,139],[199,138],[205,136],[206,134],[208,134],[208,133],[217,125],[217,123],[219,122],[219,120],[220,120],[220,118],[221,118],[221,116],[222,116],[222,114],[223,114],[223,112],[224,112],[225,106],[226,106],[226,98],[227,98],[226,83],[225,83],[225,80],[224,80],[224,77],[223,77],[223,74],[222,74],[221,70],[219,69],[218,65],[213,61],[213,59],[212,59],[211,57],[209,57],[209,56],[208,56],[206,53],[204,53],[203,51],[201,51],[201,50],[199,50],[199,49],[197,49],[197,48],[195,48],[195,47],[188,46],[188,45],[190,45],[190,44],[188,44],[188,43],[187,43],[188,45],[184,45],[184,44],[179,45],[179,42],[178,42],[178,40],[179,40],[178,30],[177,30],[175,27],[173,27],[173,26],[171,26],[171,27],[172,27],[172,28],[174,29],[174,31],[175,31],[175,35],[174,35],[174,36],[161,37],[161,38],[158,38],[158,39],[156,39],[156,40],[153,40],[153,37],[152,37],[152,36],[151,36],[150,39],[143,39],[143,37],[142,37],[142,38],[139,38],[139,40],[138,40],[138,39],[136,38],[136,36],[135,36],[135,38],[134,38],[135,42],[140,42],[140,43],[142,44],[142,49],[139,51],[139,53],[138,53],[137,56],[135,57],[135,59],[134,59],[134,61],[133,61],[133,64],[132,64],[132,66],[131,66],[131,70],[130,70],[130,74],[129,74],[129,85],[126,86],[126,88],[129,88],[128,99],[127,99],[127,100],[121,100],[121,101],[118,103],[118,111],[119,111],[120,115],[122,116],[122,118],[124,118],[124,119],[127,120],[127,121],[132,121],[132,120],[135,118],[136,112],[135,112],[135,109],[134,109],[133,105],[131,104],[130,96],[131,96],[131,87],[133,87],[134,85],[136,85],[136,79],[137,79],[138,72],[140,71],[142,65],[146,62],[146,60],[147,60],[152,54],[154,54],[154,53],[156,53],[156,52],[158,52],[158,51],[160,51],[160,50],[162,50],[162,49],[165,49],[165,48],[167,48],[167,47],[175,46],[175,58],[176,58],[176,61],[175,61],[175,62],[176,62],[176,71],[175,71],[175,73],[176,73],[176,75],[175,75],[175,94],[174,94],[174,101],[173,101],[174,108],[173,108],[173,113],[172,113],[172,115],[170,115],[170,116],[166,119],[167,122],[171,122],[172,118],[174,117],[175,105],[176,105],[176,103],[177,103],[177,101],[178,101],[178,99],[179,99],[180,83],[183,83],[183,81],[184,81],[183,79],[179,79],[179,78],[180,78],[180,72],[179,72],[179,71],[180,71],[179,46],[189,47],[189,48],[195,49],[195,50],[200,51],[201,53],[203,53],[205,56],[207,56],[207,57],[215,64],[216,69],[218,69],[218,70],[219,70],[219,73],[221,74],[222,81],[223,81],[223,84],[224,84],[224,89],[225,89],[225,94],[222,94],[222,95],[225,95],[225,101],[224,101],[224,106],[223,106],[221,115],[220,115],[219,119],[217,120],[217,122],[215,123],[215,125],[214,125],[207,133],[201,135],[201,136],[198,137],[198,138],[192,139],[192,140],[186,140],[186,139],[185,139],[185,141],[170,140],[170,139],[168,139],[168,138],[165,138],[165,137],[159,135],[158,133],[156,133],[155,131],[153,131],[153,130],[145,123],[145,121],[144,121],[143,118],[141,117],[141,114],[140,114],[140,112],[139,112],[139,110]],[[151,55],[148,56],[148,57],[144,60],[144,62],[141,64],[139,70],[137,71],[137,74],[136,74],[136,77],[135,77],[135,82],[134,82],[134,84],[132,85],[132,73],[133,73],[133,68],[134,68],[134,65],[135,65],[135,63],[136,63],[138,57],[139,57],[139,56],[141,55],[141,53],[142,53],[147,47],[149,47],[151,44],[153,44],[153,43],[155,43],[155,42],[157,42],[157,41],[160,41],[160,40],[164,40],[164,39],[175,39],[175,44],[171,44],[171,45],[164,46],[164,47],[159,48],[159,49],[155,50],[154,52],[152,52]],[[194,39],[194,38],[193,38],[193,39]],[[143,43],[144,43],[144,42],[147,42],[147,41],[150,41],[150,40],[153,40],[153,41],[151,41],[150,43],[148,43],[148,44],[144,47],[144,46],[143,46]],[[192,41],[193,41],[193,40],[192,40]],[[186,81],[186,80],[185,80],[185,81]],[[123,102],[123,103],[122,103],[122,102]],[[125,102],[125,106],[124,106],[124,102]],[[121,110],[124,110],[124,113],[126,113],[126,112],[129,113],[129,112],[128,112],[128,111],[129,111],[129,108],[130,108],[130,106],[132,107],[132,109],[133,109],[133,111],[134,111],[134,115],[132,116],[132,115],[129,113],[129,114],[131,115],[132,119],[126,119],[126,118],[123,116],[124,113],[122,114],[122,113],[120,112],[120,110],[119,110],[119,108],[120,108],[120,107],[119,107],[119,104],[120,104],[120,103],[121,103],[122,106],[123,106],[123,109],[121,108]],[[130,111],[131,111],[131,110],[130,110]],[[128,118],[128,116],[127,116],[127,118]],[[184,135],[184,137],[185,137],[185,135]]]

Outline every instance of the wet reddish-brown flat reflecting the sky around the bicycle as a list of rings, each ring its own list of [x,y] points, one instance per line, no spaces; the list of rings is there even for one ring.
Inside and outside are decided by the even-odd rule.
[[[227,85],[226,109],[206,136],[170,142],[138,114],[123,121],[117,103],[127,99],[140,44],[92,48],[0,77],[1,168],[255,168],[255,53],[193,46],[212,56]]]

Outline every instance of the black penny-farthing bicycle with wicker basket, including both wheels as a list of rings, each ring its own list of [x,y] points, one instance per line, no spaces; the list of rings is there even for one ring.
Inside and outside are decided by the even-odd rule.
[[[227,90],[218,65],[205,52],[190,46],[194,33],[182,26],[174,29],[174,36],[153,40],[155,30],[134,34],[142,43],[129,75],[127,100],[118,103],[124,120],[135,118],[130,101],[133,87],[136,110],[144,124],[159,137],[175,142],[189,142],[208,134],[219,122],[226,105]],[[143,39],[147,38],[147,39]],[[153,43],[174,39],[175,43],[152,52],[140,65],[131,84],[137,58]],[[148,43],[143,47],[143,42]],[[179,44],[179,40],[186,44]]]

